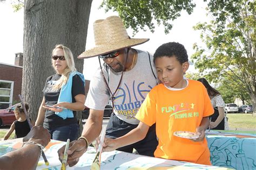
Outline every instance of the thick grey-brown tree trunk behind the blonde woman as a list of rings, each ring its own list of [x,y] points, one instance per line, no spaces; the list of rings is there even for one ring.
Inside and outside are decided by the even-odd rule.
[[[83,72],[87,26],[92,0],[30,0],[24,3],[24,61],[22,95],[35,121],[46,78],[55,73],[51,52],[56,44],[69,47],[78,72]],[[78,114],[82,118],[81,114]]]

